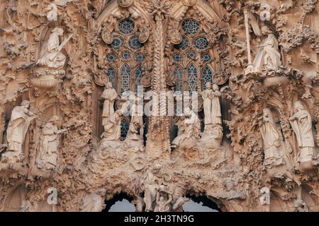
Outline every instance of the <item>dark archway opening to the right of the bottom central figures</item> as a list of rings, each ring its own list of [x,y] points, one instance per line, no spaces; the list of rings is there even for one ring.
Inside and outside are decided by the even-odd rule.
[[[189,201],[184,203],[184,212],[222,212],[218,204],[206,196],[186,195]]]

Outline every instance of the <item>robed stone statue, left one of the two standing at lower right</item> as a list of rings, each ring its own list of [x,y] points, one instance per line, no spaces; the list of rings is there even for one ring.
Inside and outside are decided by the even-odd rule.
[[[281,148],[281,136],[274,123],[272,111],[268,108],[263,110],[260,133],[262,134],[262,140],[264,141],[264,165],[271,166],[285,164]]]

